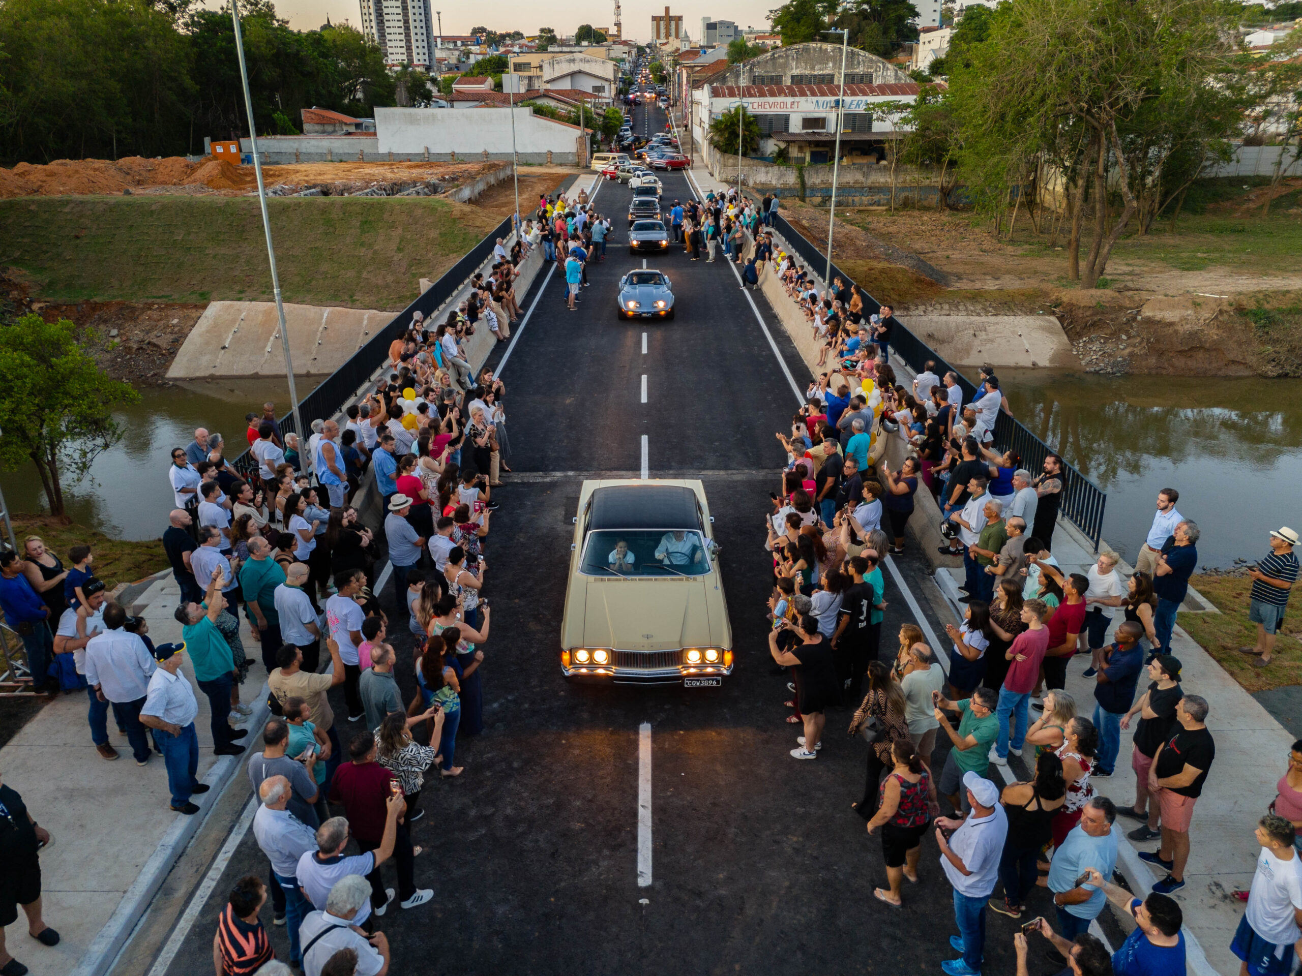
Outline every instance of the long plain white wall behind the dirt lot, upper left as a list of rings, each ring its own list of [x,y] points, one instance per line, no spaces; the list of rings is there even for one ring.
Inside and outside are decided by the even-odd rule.
[[[376,108],[379,151],[397,156],[419,155],[426,148],[431,159],[510,159],[510,112],[501,108]],[[522,163],[573,164],[578,160],[579,131],[575,126],[516,109],[516,144]],[[437,150],[437,152],[435,152]],[[548,160],[548,154],[552,154]]]

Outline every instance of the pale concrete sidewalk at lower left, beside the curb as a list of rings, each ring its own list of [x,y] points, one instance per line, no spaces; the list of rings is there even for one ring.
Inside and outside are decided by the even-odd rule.
[[[155,578],[132,606],[148,621],[148,636],[158,644],[181,640],[173,618],[180,590],[171,571]],[[253,662],[241,686],[241,701],[251,705],[246,721],[249,739],[256,739],[266,716],[266,679],[260,645],[249,638],[241,617],[245,653]],[[189,657],[181,671],[194,687]],[[260,695],[259,695],[259,690]],[[33,976],[107,972],[126,936],[171,869],[176,856],[199,829],[221,786],[243,763],[241,756],[214,756],[208,700],[194,688],[199,716],[199,772],[212,790],[195,796],[202,808],[186,816],[168,808],[167,769],[154,755],[141,768],[126,738],[118,734],[109,712],[109,743],[116,761],[100,759],[86,724],[85,691],[60,695],[46,705],[3,750],[4,782],[22,794],[33,817],[53,837],[40,855],[42,903],[46,923],[61,941],[53,949],[27,936],[26,916],[5,928],[10,955]],[[232,718],[240,720],[238,714]],[[243,726],[241,726],[243,727]],[[256,751],[258,746],[254,746]]]

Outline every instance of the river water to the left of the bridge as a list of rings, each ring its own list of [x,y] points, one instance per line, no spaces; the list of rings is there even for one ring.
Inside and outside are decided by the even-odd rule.
[[[322,377],[297,380],[303,397]],[[158,539],[167,528],[173,505],[167,467],[171,450],[194,440],[194,428],[220,433],[225,457],[234,459],[247,448],[245,414],[262,413],[266,402],[286,413],[286,380],[195,380],[176,386],[147,386],[134,406],[115,411],[122,440],[100,454],[91,474],[79,484],[64,484],[68,514],[116,539]],[[46,495],[35,465],[0,474],[5,502],[12,511],[44,511]]]

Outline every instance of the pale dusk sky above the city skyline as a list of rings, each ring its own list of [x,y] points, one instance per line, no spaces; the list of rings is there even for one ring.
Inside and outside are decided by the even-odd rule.
[[[297,30],[311,30],[326,22],[329,14],[332,22],[348,21],[354,27],[361,26],[358,0],[275,0],[276,10],[288,17]],[[672,14],[682,14],[682,29],[693,40],[700,39],[700,18],[734,21],[742,27],[768,27],[768,12],[780,0],[723,0],[708,4],[695,3],[691,7],[669,4]],[[216,0],[208,0],[207,7],[217,7]],[[539,27],[552,27],[557,34],[573,34],[581,23],[594,27],[608,27],[615,20],[615,3],[594,3],[594,0],[556,0],[549,4],[509,0],[496,4],[450,3],[430,0],[434,10],[443,10],[443,30],[445,34],[467,34],[471,27],[483,25],[492,30],[521,30],[535,34]],[[637,40],[651,38],[651,14],[664,12],[664,1],[626,0],[622,4],[624,36]]]

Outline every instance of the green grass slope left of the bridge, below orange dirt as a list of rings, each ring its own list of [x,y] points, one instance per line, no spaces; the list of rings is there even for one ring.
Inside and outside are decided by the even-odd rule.
[[[272,199],[286,302],[401,308],[499,217],[427,198]],[[270,301],[258,200],[240,197],[40,197],[0,200],[0,264],[42,298]]]

